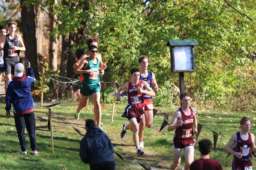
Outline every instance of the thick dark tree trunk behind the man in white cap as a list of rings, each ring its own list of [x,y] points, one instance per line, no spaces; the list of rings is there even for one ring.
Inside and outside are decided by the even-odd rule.
[[[25,0],[20,0],[21,6]],[[21,11],[21,23],[22,33],[24,44],[26,47],[25,56],[29,59],[32,68],[34,69],[35,78],[39,79],[38,74],[38,54],[37,54],[37,45],[36,45],[36,36],[35,36],[35,12],[34,6],[29,5],[22,6]]]

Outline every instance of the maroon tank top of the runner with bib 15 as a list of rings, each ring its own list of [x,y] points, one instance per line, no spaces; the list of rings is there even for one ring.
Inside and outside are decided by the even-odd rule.
[[[194,135],[194,133],[193,133],[193,123],[194,123],[195,116],[194,116],[194,113],[192,111],[192,108],[189,107],[189,109],[190,109],[191,114],[189,116],[186,116],[184,114],[184,112],[182,111],[182,109],[179,108],[183,124],[182,124],[182,126],[178,127],[175,130],[175,136],[174,137],[176,137],[176,138],[184,138],[184,139],[193,138],[193,135]]]

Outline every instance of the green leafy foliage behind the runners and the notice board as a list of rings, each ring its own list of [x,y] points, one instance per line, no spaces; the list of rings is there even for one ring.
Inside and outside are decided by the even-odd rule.
[[[168,39],[195,39],[199,44],[195,47],[196,72],[185,74],[185,88],[193,94],[196,104],[244,109],[240,102],[252,108],[250,101],[256,96],[252,90],[256,77],[256,23],[224,0],[78,0],[50,5],[52,2],[27,0],[21,6],[42,3],[42,8],[54,8],[51,15],[57,15],[58,26],[51,35],[76,34],[76,39],[81,37],[79,34],[98,36],[99,52],[108,65],[105,80],[118,79],[119,84],[124,84],[130,80],[130,69],[138,67],[138,57],[147,55],[148,70],[155,73],[160,88],[156,104],[173,105],[171,85],[178,86],[179,81],[178,75],[169,71],[166,43]],[[230,4],[256,18],[256,1]],[[85,41],[79,39],[70,50],[86,49]]]

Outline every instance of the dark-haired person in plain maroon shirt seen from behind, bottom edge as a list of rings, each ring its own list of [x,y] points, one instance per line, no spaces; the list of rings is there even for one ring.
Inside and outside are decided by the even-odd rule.
[[[202,139],[198,142],[201,159],[193,161],[189,170],[223,170],[219,161],[210,159],[212,142],[209,139]]]

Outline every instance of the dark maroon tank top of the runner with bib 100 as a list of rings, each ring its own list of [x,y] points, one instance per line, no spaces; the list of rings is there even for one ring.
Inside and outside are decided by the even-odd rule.
[[[236,138],[237,138],[237,144],[235,147],[235,152],[241,152],[243,154],[241,160],[244,161],[250,161],[252,159],[252,138],[250,133],[248,132],[248,140],[244,141],[241,136],[240,136],[240,132],[236,133]],[[236,156],[234,156],[234,159],[238,159]]]

